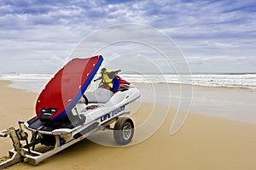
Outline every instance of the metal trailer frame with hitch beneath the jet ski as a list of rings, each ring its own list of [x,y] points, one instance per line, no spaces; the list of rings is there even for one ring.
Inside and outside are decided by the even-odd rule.
[[[20,161],[25,161],[32,165],[38,165],[39,162],[44,161],[45,159],[49,158],[50,156],[55,155],[56,153],[60,152],[61,150],[66,149],[67,147],[79,142],[80,140],[86,138],[91,133],[94,133],[96,129],[86,133],[84,135],[79,136],[77,139],[71,139],[65,144],[61,144],[61,135],[54,135],[55,136],[55,145],[48,146],[49,150],[47,151],[36,151],[35,146],[40,144],[40,141],[37,139],[37,132],[32,132],[32,139],[31,142],[28,143],[28,134],[23,130],[22,124],[24,122],[19,122],[19,128],[15,129],[15,127],[9,127],[0,132],[0,137],[7,138],[8,136],[13,142],[14,149],[9,150],[9,159],[3,162],[0,162],[0,169],[5,167],[9,167],[18,163]],[[26,141],[26,144],[22,144]],[[30,149],[32,147],[32,150]]]

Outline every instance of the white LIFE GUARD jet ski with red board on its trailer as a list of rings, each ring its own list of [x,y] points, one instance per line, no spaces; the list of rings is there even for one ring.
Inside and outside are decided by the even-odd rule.
[[[10,159],[0,163],[0,169],[19,161],[37,165],[99,130],[113,130],[116,144],[131,143],[134,122],[128,117],[131,111],[127,105],[141,94],[118,76],[119,71],[102,68],[101,77],[96,78],[102,61],[102,55],[69,61],[39,94],[36,116],[20,121],[17,129],[10,127],[0,132],[0,137],[9,136],[14,143],[14,149],[9,150]],[[101,82],[90,91],[90,84],[97,81]],[[30,142],[23,127],[32,133]],[[37,150],[42,145],[46,151]]]

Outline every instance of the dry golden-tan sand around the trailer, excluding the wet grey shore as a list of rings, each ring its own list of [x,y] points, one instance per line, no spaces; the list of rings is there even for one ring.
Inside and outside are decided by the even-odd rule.
[[[0,82],[0,128],[17,127],[18,120],[34,116],[38,94],[9,88],[10,82]],[[218,88],[211,88],[218,91]],[[205,90],[205,88],[203,88]],[[213,93],[213,92],[212,92]],[[163,125],[150,138],[129,147],[113,148],[84,139],[55,156],[32,166],[20,162],[8,169],[255,169],[256,124],[236,122],[219,116],[190,113],[183,127],[169,134],[176,108],[142,103],[133,116],[136,126],[142,125],[148,112],[168,111]],[[222,111],[222,110],[221,110]],[[148,124],[149,126],[149,124]],[[112,133],[102,139],[113,142]],[[133,143],[139,141],[142,130],[136,129]],[[0,139],[0,156],[11,148],[9,139]]]

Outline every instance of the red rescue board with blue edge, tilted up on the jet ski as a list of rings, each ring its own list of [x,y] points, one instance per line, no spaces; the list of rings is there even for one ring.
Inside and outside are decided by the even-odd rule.
[[[36,113],[44,108],[56,108],[51,122],[60,120],[77,104],[102,64],[102,55],[88,59],[72,59],[55,74],[38,97]]]

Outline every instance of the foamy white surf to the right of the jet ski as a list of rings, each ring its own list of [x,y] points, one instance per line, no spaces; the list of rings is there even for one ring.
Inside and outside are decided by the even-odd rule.
[[[210,87],[256,88],[256,74],[123,75],[130,82],[184,83]]]

